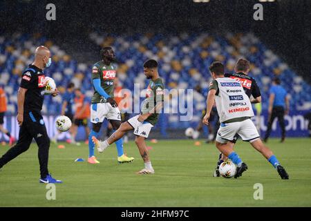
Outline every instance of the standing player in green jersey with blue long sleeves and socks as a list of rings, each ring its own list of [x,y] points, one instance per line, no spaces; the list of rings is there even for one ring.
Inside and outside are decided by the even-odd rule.
[[[121,114],[117,108],[117,103],[113,99],[113,80],[116,74],[115,52],[111,47],[104,47],[101,50],[102,61],[98,61],[92,68],[92,81],[94,86],[94,95],[91,101],[91,123],[93,124],[92,131],[88,136],[88,163],[98,164],[94,155],[94,144],[92,137],[97,137],[100,133],[100,127],[104,122],[105,117],[117,130],[121,125]],[[117,161],[132,162],[133,157],[127,157],[123,153],[122,138],[116,140],[117,145]]]

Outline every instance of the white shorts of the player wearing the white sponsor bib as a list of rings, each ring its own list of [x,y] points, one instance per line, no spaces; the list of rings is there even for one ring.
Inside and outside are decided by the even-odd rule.
[[[252,119],[245,119],[243,122],[221,123],[216,141],[221,144],[228,141],[234,142],[236,134],[240,135],[243,141],[248,142],[254,142],[260,137]]]

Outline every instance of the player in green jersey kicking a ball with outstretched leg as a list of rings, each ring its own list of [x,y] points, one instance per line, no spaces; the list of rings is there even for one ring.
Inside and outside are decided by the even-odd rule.
[[[113,142],[119,140],[124,133],[134,131],[134,135],[136,135],[135,143],[138,146],[142,160],[144,160],[144,169],[138,173],[150,174],[154,173],[154,170],[144,140],[149,136],[151,128],[158,122],[159,112],[164,102],[164,84],[158,74],[158,62],[153,59],[144,62],[144,75],[151,81],[147,87],[146,99],[144,99],[140,115],[136,115],[127,122],[122,123],[120,128],[104,142],[100,142],[95,137],[92,137],[92,140],[101,153]]]

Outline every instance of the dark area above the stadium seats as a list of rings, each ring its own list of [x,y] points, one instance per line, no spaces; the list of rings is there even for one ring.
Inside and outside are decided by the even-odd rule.
[[[46,5],[56,6],[56,21],[46,20]],[[90,32],[254,32],[310,82],[311,1],[264,2],[263,21],[254,21],[255,0],[5,0],[0,2],[3,34],[41,32],[81,59],[93,50]],[[85,43],[85,44],[81,44]],[[97,49],[97,48],[96,48]],[[84,56],[84,58],[87,56]]]

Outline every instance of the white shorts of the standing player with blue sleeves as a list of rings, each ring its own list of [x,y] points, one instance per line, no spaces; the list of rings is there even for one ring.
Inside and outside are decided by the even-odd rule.
[[[97,103],[91,105],[91,122],[102,123],[105,119],[121,120],[119,108],[113,108],[109,103]]]

